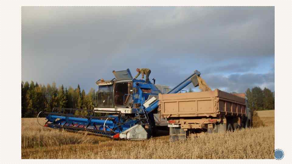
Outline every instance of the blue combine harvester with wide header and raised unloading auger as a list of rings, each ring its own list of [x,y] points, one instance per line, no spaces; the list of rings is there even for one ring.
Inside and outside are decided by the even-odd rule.
[[[129,69],[113,71],[113,74],[112,80],[96,81],[99,86],[97,108],[54,108],[52,112],[44,112],[47,118],[44,126],[111,138],[141,140],[151,137],[157,125],[154,115],[158,113],[160,91],[151,82],[133,79]],[[200,72],[195,70],[167,94],[178,93],[191,82],[197,87],[197,76]],[[98,112],[110,115],[98,117]]]

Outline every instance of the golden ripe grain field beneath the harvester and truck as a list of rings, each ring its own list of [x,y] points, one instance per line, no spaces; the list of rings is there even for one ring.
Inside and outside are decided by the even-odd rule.
[[[264,126],[225,134],[204,134],[169,142],[167,131],[144,141],[112,140],[38,125],[22,118],[22,159],[273,159],[274,119],[259,112]],[[41,123],[45,120],[42,118]]]

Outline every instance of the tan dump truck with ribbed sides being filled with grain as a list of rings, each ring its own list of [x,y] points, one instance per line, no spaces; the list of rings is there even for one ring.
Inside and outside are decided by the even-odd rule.
[[[215,91],[159,94],[161,119],[167,119],[170,141],[223,133],[250,126],[251,115],[245,94]]]

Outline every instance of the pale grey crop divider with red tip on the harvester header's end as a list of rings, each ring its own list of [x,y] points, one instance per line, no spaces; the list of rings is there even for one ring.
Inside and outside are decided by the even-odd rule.
[[[129,139],[129,140],[143,140],[143,139],[147,139],[147,137],[148,137],[148,133],[140,124],[134,125],[131,128],[113,136],[113,138]]]

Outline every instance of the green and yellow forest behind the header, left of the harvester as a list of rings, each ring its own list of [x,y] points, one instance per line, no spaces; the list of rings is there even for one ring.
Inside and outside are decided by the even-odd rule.
[[[22,81],[21,117],[36,117],[40,111],[52,111],[54,107],[93,109],[96,97],[97,92],[93,88],[86,94],[79,84],[77,88],[70,86],[67,89],[63,85],[57,88],[54,82],[45,86]]]

